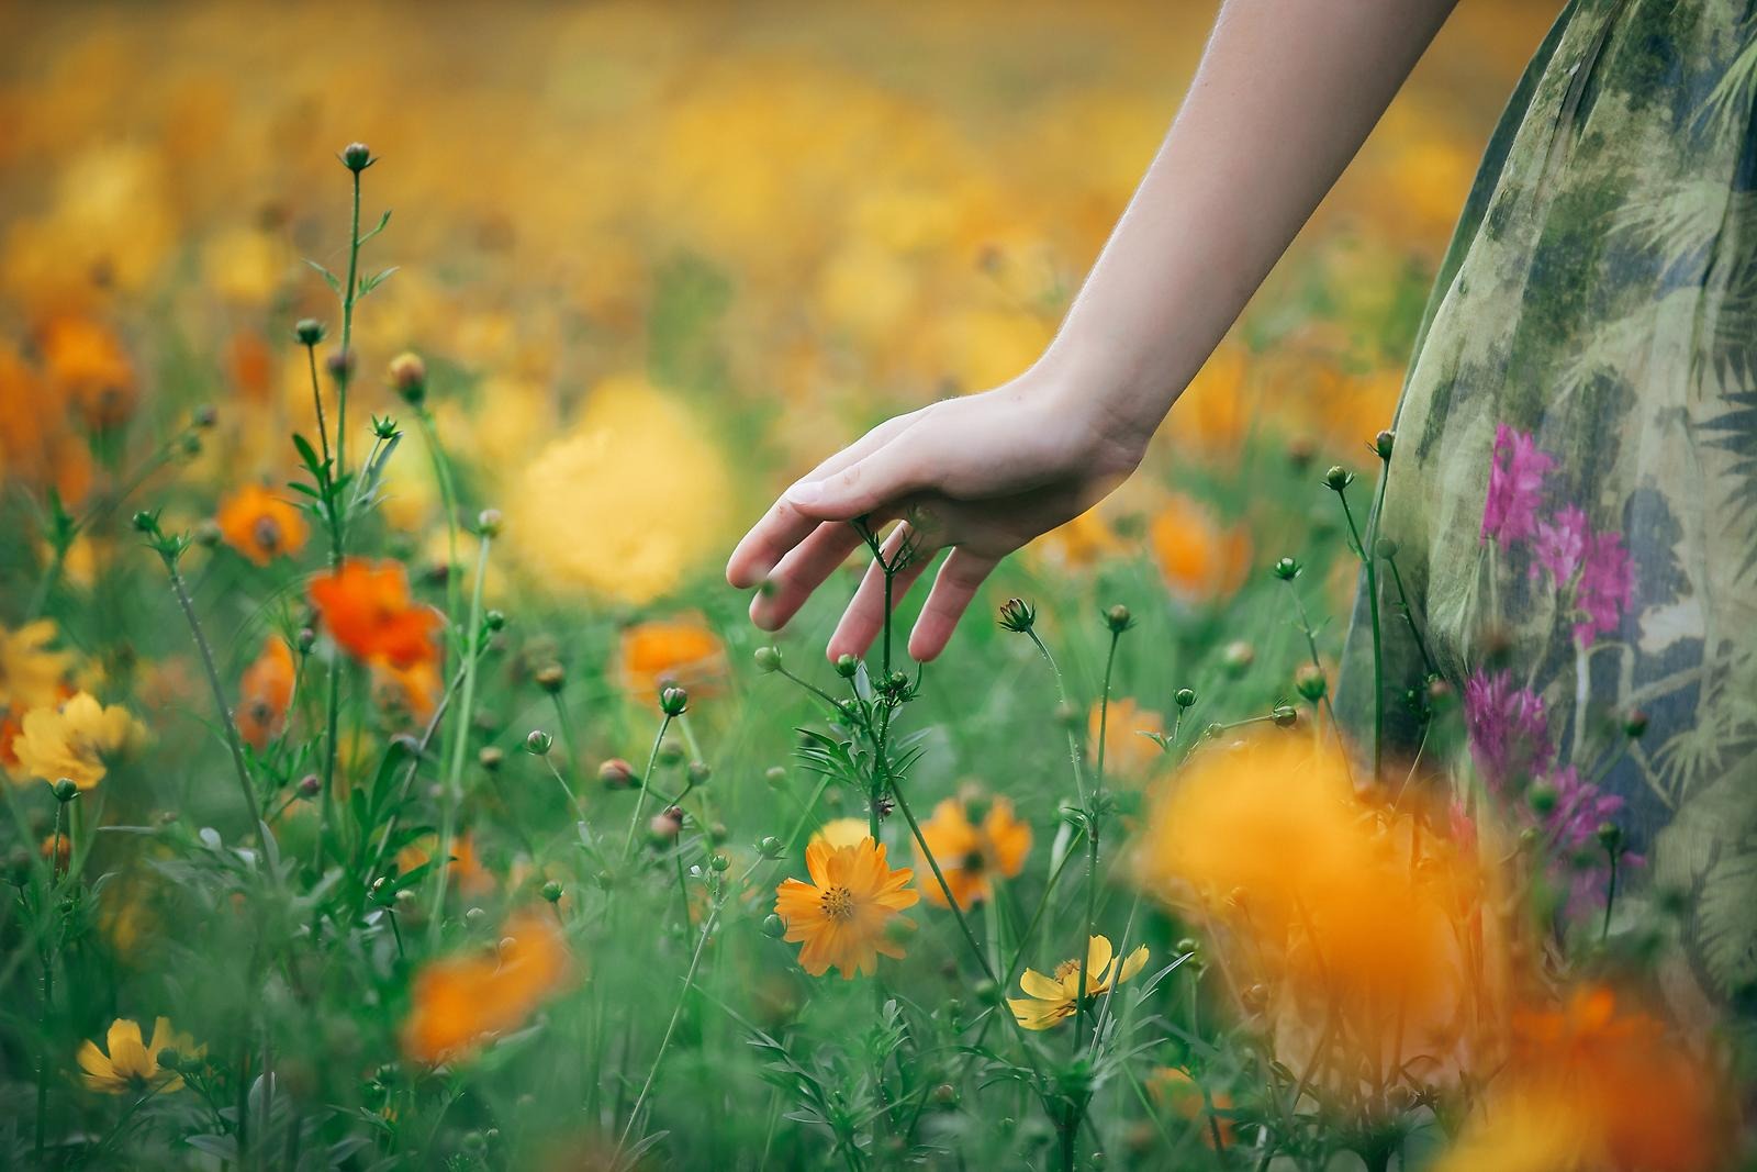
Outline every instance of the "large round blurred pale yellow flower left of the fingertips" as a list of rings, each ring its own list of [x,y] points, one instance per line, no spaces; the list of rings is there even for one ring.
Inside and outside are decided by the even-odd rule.
[[[733,520],[713,436],[682,401],[633,376],[601,383],[510,492],[506,543],[541,585],[631,603],[676,587],[719,552]]]

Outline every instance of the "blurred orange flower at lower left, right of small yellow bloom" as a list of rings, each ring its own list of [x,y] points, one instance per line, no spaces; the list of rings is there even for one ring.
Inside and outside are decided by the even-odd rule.
[[[422,968],[402,1019],[402,1053],[422,1063],[467,1058],[483,1035],[524,1024],[562,984],[568,966],[568,945],[548,919],[515,915],[495,952]]]

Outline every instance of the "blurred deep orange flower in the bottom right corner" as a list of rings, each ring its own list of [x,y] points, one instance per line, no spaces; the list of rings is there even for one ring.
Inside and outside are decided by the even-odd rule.
[[[1604,986],[1513,1016],[1513,1056],[1437,1167],[1708,1172],[1725,1167],[1724,1079]]]

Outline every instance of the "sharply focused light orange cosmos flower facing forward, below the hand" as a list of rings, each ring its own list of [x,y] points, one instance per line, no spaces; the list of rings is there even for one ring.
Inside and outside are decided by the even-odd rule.
[[[803,944],[799,965],[822,977],[835,965],[845,980],[878,972],[878,954],[900,959],[903,949],[886,938],[898,912],[921,894],[908,889],[910,868],[891,870],[884,845],[863,838],[854,847],[813,842],[805,849],[812,882],[784,879],[775,889],[775,914],[787,924],[789,944]],[[903,924],[910,921],[901,919]]]

